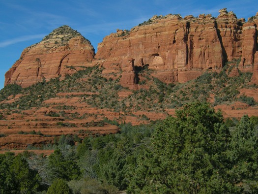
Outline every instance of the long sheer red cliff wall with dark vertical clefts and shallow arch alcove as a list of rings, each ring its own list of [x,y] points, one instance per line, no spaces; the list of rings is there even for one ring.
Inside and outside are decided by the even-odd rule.
[[[154,16],[130,31],[117,30],[98,45],[96,59],[106,70],[123,72],[120,84],[137,88],[137,69],[148,66],[164,82],[185,82],[203,69],[219,69],[242,57],[242,65],[258,63],[258,14],[245,23],[233,12]]]

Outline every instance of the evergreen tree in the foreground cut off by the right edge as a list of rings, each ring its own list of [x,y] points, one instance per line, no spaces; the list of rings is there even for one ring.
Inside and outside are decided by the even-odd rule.
[[[232,133],[230,174],[241,193],[258,193],[258,128],[244,115]]]

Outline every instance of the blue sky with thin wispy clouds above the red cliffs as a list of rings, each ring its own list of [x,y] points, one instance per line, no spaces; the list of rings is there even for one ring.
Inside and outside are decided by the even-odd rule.
[[[217,17],[225,7],[246,20],[258,12],[257,0],[0,0],[0,89],[23,49],[62,25],[80,32],[97,51],[106,35],[130,30],[155,14]]]

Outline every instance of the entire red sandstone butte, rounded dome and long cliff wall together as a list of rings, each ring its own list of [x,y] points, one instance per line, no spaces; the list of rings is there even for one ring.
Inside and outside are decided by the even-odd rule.
[[[72,74],[75,69],[67,66],[100,64],[105,67],[103,75],[121,74],[122,86],[138,89],[138,71],[146,66],[165,83],[186,82],[239,58],[238,68],[252,71],[253,81],[258,82],[258,13],[248,22],[226,8],[219,13],[217,18],[211,14],[153,16],[130,31],[106,36],[96,55],[79,32],[60,27],[23,51],[6,72],[5,85],[28,87]]]

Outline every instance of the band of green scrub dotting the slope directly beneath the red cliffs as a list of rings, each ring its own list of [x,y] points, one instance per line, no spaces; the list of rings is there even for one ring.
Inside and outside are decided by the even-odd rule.
[[[181,107],[196,99],[207,101],[211,95],[214,96],[215,106],[230,105],[235,101],[250,106],[256,104],[253,97],[240,94],[239,91],[243,88],[258,87],[256,84],[249,84],[252,73],[237,69],[238,76],[229,76],[232,66],[226,65],[221,72],[207,71],[195,80],[176,84],[161,82],[151,75],[150,69],[145,68],[138,72],[140,76],[144,75],[144,79],[140,79],[139,82],[140,89],[132,91],[131,95],[122,99],[118,97],[118,92],[129,90],[119,84],[119,76],[116,79],[107,79],[102,75],[102,70],[103,67],[99,65],[85,67],[73,75],[66,75],[63,80],[55,78],[25,89],[10,84],[0,91],[0,99],[4,102],[10,96],[20,95],[20,97],[12,103],[0,103],[0,109],[13,110],[17,105],[20,110],[41,107],[43,104],[47,105],[45,100],[57,97],[58,93],[67,93],[66,97],[84,97],[85,102],[91,107],[113,109],[115,112],[125,110],[128,114],[134,109],[164,112],[164,109]]]

